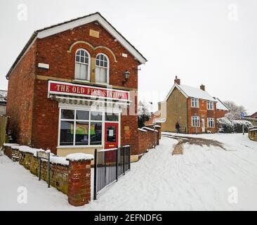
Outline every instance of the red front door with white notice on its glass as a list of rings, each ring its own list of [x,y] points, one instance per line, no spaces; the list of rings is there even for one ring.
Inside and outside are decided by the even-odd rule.
[[[117,148],[119,144],[119,123],[105,122],[105,149]]]

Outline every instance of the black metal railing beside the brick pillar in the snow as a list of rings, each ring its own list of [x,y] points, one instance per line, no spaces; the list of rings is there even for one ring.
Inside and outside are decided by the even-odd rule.
[[[118,181],[119,176],[131,169],[131,148],[95,149],[93,200],[107,186]]]

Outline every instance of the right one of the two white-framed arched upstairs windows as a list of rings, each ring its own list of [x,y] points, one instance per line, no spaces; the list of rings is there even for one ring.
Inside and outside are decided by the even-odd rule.
[[[95,82],[109,84],[109,59],[103,53],[96,56]]]

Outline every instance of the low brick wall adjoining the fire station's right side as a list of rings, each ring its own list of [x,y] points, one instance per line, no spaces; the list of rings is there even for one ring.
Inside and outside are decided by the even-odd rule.
[[[138,153],[144,154],[147,149],[154,148],[154,141],[155,145],[158,146],[160,136],[161,131],[159,128],[156,128],[156,131],[153,131],[150,127],[138,129]]]

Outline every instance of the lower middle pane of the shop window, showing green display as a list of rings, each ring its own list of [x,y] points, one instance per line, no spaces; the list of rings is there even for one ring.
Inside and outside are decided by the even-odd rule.
[[[75,145],[76,146],[88,145],[88,122],[76,122]]]

